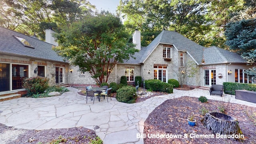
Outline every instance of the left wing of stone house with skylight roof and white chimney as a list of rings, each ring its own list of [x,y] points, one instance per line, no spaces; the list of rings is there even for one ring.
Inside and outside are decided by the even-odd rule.
[[[46,30],[46,37],[51,37],[51,33]],[[24,90],[22,80],[25,77],[46,76],[50,78],[50,85],[67,84],[69,64],[52,46],[0,26],[0,94]]]

